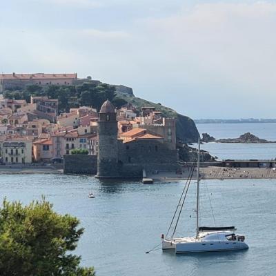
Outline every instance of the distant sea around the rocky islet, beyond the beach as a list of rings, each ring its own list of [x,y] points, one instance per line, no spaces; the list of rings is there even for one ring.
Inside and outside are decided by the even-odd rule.
[[[250,132],[261,139],[276,141],[276,124],[197,124],[199,133],[221,138],[237,138],[245,132]],[[202,147],[210,155],[218,159],[274,159],[275,144],[221,144],[206,143]]]

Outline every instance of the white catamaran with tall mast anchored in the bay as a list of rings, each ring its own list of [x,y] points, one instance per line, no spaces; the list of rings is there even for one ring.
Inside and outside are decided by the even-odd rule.
[[[230,227],[199,227],[199,161],[200,161],[200,141],[197,153],[197,228],[195,237],[175,237],[175,230],[179,221],[181,210],[184,206],[184,201],[190,186],[190,181],[193,177],[193,170],[190,172],[190,177],[186,182],[186,186],[177,204],[175,215],[172,217],[166,237],[162,235],[162,249],[172,249],[175,253],[193,253],[193,252],[210,252],[210,251],[226,251],[226,250],[242,250],[248,249],[248,245],[244,242],[244,235],[236,235],[234,226]],[[178,217],[177,217],[178,213]],[[177,217],[177,219],[176,219]],[[172,228],[172,224],[176,219],[175,228],[172,231],[171,237],[168,233]]]

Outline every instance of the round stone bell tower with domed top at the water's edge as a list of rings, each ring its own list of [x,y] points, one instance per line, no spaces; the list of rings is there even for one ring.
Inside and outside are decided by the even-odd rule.
[[[98,178],[117,178],[118,172],[118,125],[114,106],[105,101],[99,111],[98,121]]]

